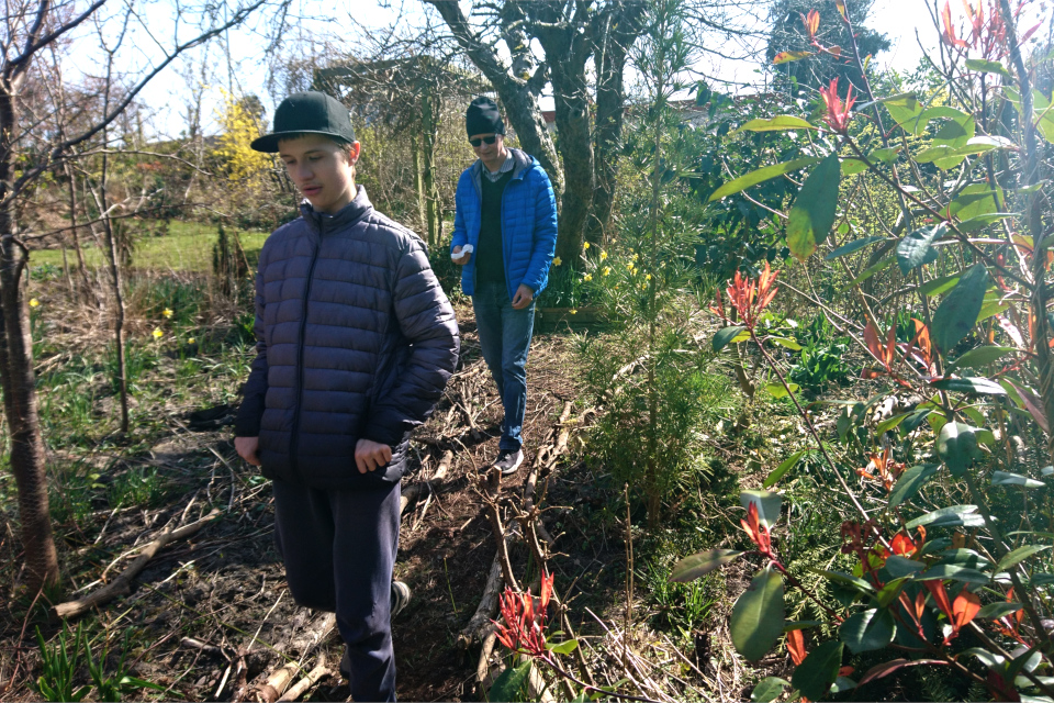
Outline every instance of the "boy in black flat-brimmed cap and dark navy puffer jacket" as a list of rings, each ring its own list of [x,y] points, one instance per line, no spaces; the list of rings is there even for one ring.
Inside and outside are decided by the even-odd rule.
[[[394,701],[391,615],[410,596],[392,581],[399,481],[457,362],[457,320],[422,241],[355,185],[340,102],[290,96],[251,146],[278,153],[306,201],[260,252],[235,447],[274,481],[293,598],[337,614],[352,698]]]

